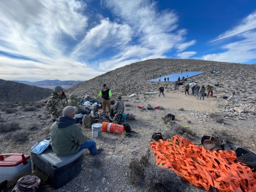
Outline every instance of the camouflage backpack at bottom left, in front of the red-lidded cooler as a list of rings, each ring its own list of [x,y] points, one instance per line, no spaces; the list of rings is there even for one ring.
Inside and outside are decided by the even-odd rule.
[[[36,175],[27,175],[20,178],[16,186],[12,189],[12,192],[19,191],[31,191],[35,192],[41,184],[41,179]]]

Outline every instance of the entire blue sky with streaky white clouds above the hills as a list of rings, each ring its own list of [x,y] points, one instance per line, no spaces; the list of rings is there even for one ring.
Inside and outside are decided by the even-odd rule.
[[[256,63],[256,1],[0,1],[0,78],[87,80],[133,62]]]

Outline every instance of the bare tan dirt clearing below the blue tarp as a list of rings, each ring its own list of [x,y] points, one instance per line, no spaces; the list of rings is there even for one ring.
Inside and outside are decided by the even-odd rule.
[[[205,100],[199,100],[198,97],[193,95],[185,95],[185,93],[165,93],[164,98],[161,94],[160,97],[156,97],[150,102],[153,106],[163,106],[164,108],[180,109],[195,111],[207,111],[207,112],[219,112],[219,109],[215,107],[214,98],[209,97]]]

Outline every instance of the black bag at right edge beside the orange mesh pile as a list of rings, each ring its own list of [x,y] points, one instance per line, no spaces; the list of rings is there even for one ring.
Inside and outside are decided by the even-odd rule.
[[[236,149],[236,157],[243,163],[252,166],[256,169],[256,154],[245,147]]]

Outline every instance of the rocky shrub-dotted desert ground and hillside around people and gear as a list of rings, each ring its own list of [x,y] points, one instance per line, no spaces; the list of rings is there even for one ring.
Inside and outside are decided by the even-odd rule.
[[[221,73],[213,75],[210,69],[217,68]],[[214,87],[214,97],[199,100],[193,95],[175,91],[173,83],[161,83],[165,89],[166,98],[162,95],[143,95],[143,92],[158,90],[158,82],[148,82],[153,73],[162,73],[162,76],[179,73],[181,69],[189,71],[207,71],[204,74],[191,77],[189,81],[199,85],[221,84]],[[150,161],[155,162],[150,142],[154,132],[161,132],[165,138],[178,133],[199,144],[204,134],[218,134],[225,136],[236,147],[244,146],[256,151],[256,81],[255,65],[242,65],[238,63],[223,63],[202,60],[181,59],[154,59],[109,71],[67,90],[67,94],[74,93],[78,97],[86,94],[99,93],[103,83],[106,83],[116,95],[123,95],[125,113],[133,114],[135,119],[127,120],[132,130],[132,137],[103,132],[102,137],[95,139],[97,146],[104,150],[97,156],[91,156],[84,150],[84,159],[81,173],[66,186],[54,190],[50,186],[47,191],[148,191],[147,186],[137,186],[131,182],[132,174],[129,164],[132,160],[139,161],[142,155],[149,150]],[[151,75],[152,74],[152,75]],[[122,88],[125,85],[125,90]],[[130,85],[130,86],[129,86]],[[235,91],[238,102],[234,99],[221,99],[221,95],[231,95]],[[128,95],[136,93],[137,97]],[[0,103],[0,154],[23,153],[29,154],[30,148],[36,141],[42,140],[48,133],[52,124],[49,114],[45,111],[44,103],[38,101]],[[138,106],[147,108],[161,106],[161,109],[142,110]],[[9,110],[7,110],[9,109]],[[175,115],[173,122],[164,122],[162,117],[168,113]],[[15,124],[16,123],[16,124]],[[166,124],[165,124],[166,123]],[[185,131],[174,130],[177,125],[188,125]],[[90,129],[84,133],[92,139]],[[153,166],[152,165],[152,166]],[[179,183],[180,191],[205,191],[189,185],[187,182]],[[211,189],[214,191],[213,189]]]

